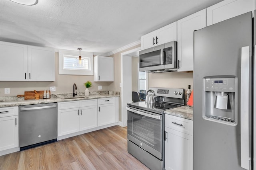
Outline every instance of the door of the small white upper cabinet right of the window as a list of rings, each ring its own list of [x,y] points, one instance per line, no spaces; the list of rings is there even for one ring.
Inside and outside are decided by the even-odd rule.
[[[114,58],[98,56],[98,82],[114,81]],[[95,80],[94,80],[95,81]]]

